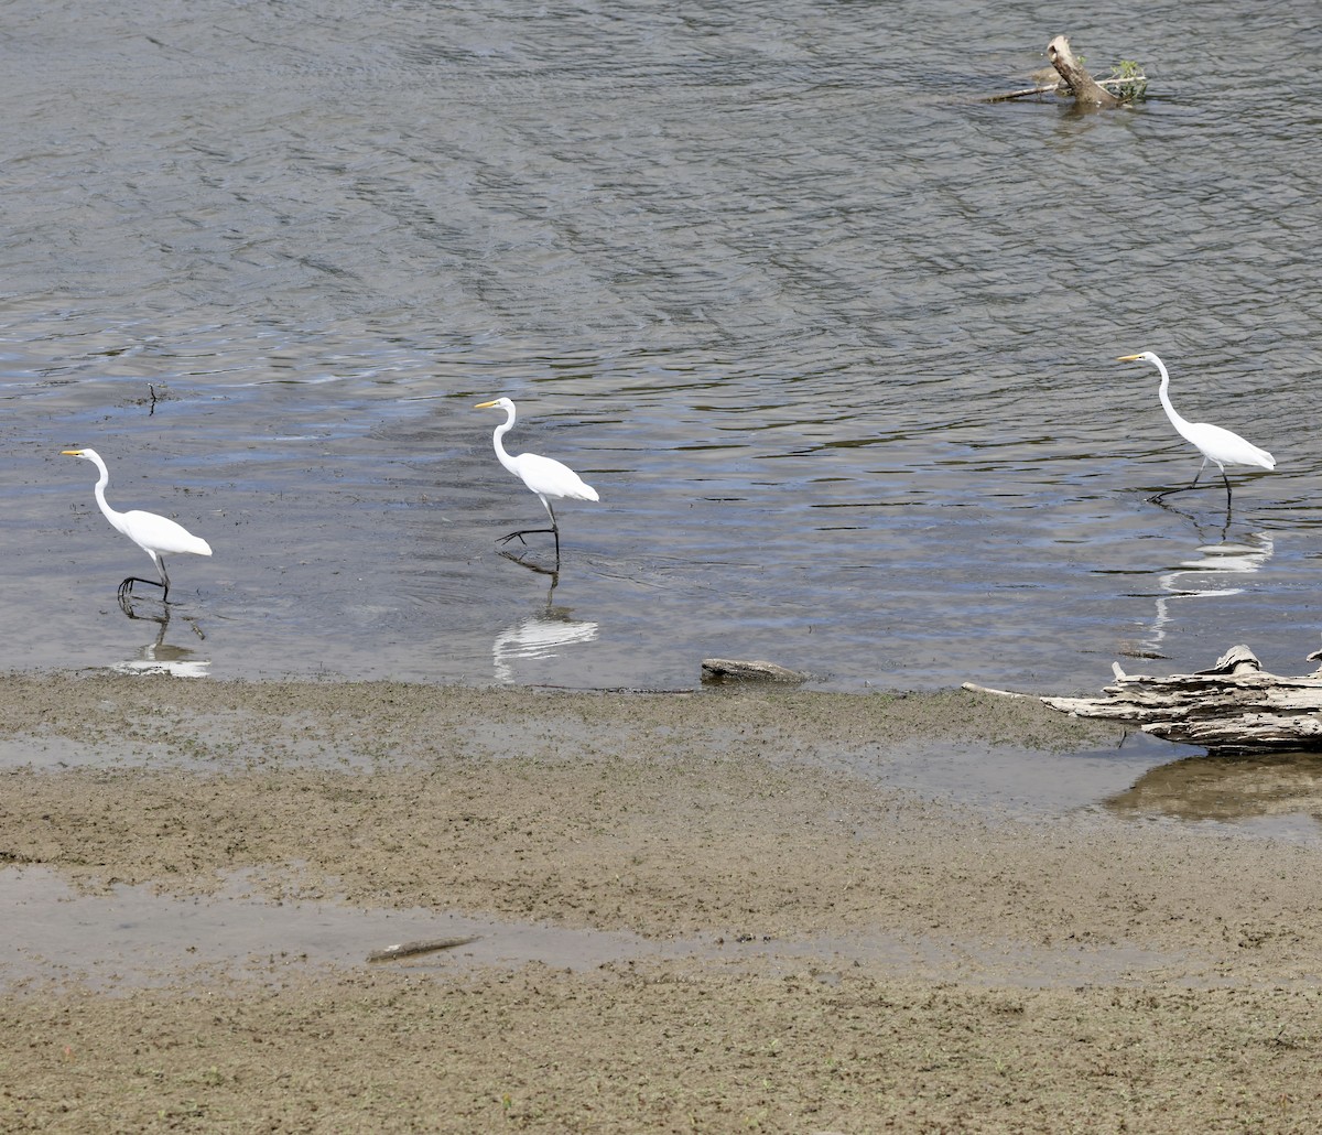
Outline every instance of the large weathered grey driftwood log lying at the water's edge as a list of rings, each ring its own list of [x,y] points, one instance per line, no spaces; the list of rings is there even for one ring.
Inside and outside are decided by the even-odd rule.
[[[1116,684],[1105,687],[1105,697],[1039,701],[1219,753],[1322,750],[1322,671],[1305,677],[1268,673],[1245,646],[1231,647],[1216,665],[1196,673],[1147,677],[1125,673],[1116,663],[1112,668]]]

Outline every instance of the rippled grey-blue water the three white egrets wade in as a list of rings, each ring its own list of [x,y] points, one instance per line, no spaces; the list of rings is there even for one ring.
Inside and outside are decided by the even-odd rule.
[[[1311,3],[9,4],[0,667],[1096,689],[1319,644]],[[1071,36],[1142,106],[982,105]],[[1157,402],[1278,460],[1200,458]],[[490,451],[600,492],[542,519]],[[97,511],[177,517],[168,624]],[[530,565],[530,566],[529,566]],[[554,587],[553,587],[554,583]],[[159,614],[151,589],[135,607]],[[1158,655],[1136,660],[1136,655]]]

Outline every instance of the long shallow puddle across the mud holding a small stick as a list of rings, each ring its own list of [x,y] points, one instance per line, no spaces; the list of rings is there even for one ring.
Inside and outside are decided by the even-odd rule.
[[[463,974],[479,967],[557,970],[678,958],[727,963],[771,960],[789,974],[824,964],[818,980],[838,982],[846,967],[880,966],[890,975],[1050,988],[1080,982],[1133,980],[1136,971],[1177,964],[1179,955],[1121,945],[1080,951],[1018,943],[952,942],[878,930],[849,937],[777,939],[723,934],[658,941],[637,934],[575,930],[513,919],[423,909],[379,910],[329,898],[263,900],[237,872],[217,896],[181,898],[151,886],[115,884],[78,893],[41,866],[0,868],[0,900],[16,911],[0,989],[83,986],[127,993],[198,972],[279,986],[308,970],[361,970],[371,955],[412,942],[459,941],[389,968]],[[95,933],[89,933],[90,930]],[[464,941],[468,939],[468,941]],[[816,966],[814,966],[816,972]]]

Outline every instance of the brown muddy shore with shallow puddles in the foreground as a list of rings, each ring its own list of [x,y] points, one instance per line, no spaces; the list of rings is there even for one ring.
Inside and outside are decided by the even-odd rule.
[[[986,746],[1067,778],[1113,728],[968,693],[0,684],[7,1131],[1322,1122],[1314,841],[892,775]],[[430,918],[477,941],[366,960]]]

